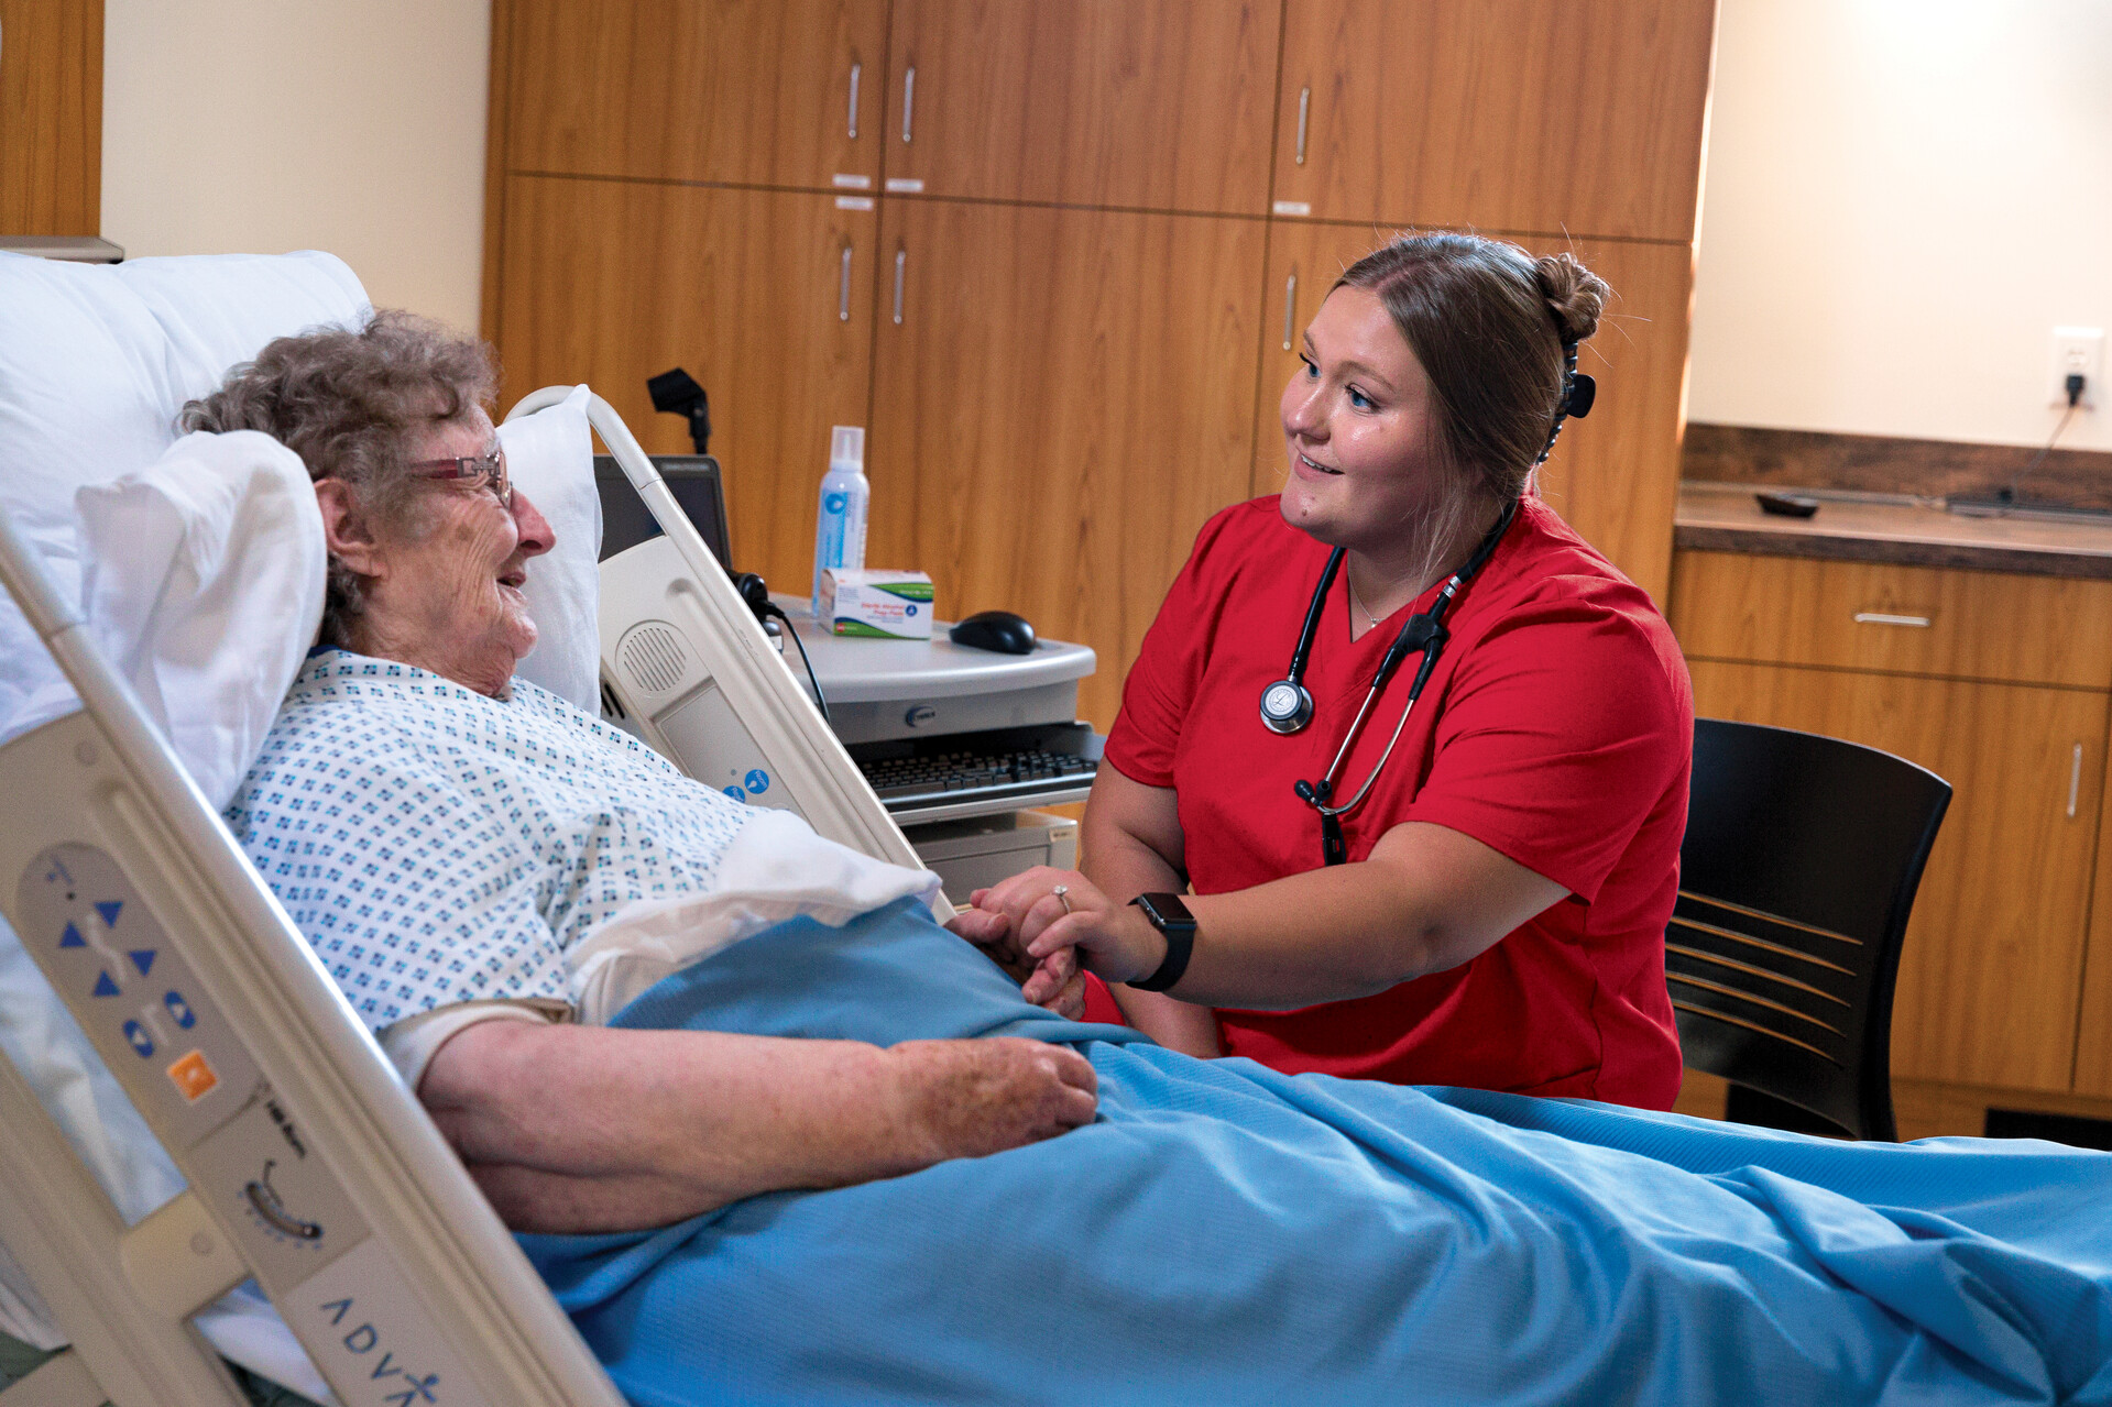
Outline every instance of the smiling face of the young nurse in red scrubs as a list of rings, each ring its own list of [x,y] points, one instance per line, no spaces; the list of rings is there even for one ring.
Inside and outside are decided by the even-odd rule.
[[[1337,287],[1284,387],[1284,522],[1388,560],[1445,494],[1434,391],[1379,296]]]

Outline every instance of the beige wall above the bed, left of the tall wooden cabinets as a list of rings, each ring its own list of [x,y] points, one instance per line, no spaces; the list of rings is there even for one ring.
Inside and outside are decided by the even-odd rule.
[[[490,0],[108,0],[103,237],[329,249],[477,327]]]

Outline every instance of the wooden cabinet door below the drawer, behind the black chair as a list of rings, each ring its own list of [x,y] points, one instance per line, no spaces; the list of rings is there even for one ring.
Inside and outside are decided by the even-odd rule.
[[[1884,748],[1956,788],[1899,961],[1892,1073],[2066,1090],[2106,695],[1713,659],[1690,668],[1700,714]]]

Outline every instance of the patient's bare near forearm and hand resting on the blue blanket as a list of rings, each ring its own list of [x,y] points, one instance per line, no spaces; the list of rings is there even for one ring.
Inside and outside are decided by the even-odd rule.
[[[843,1187],[1052,1139],[1092,1065],[1026,1039],[777,1039],[488,1020],[418,1099],[522,1232],[665,1225],[758,1192]]]

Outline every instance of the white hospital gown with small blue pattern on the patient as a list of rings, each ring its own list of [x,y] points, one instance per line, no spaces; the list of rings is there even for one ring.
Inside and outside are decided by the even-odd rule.
[[[361,1018],[566,999],[566,946],[703,894],[746,805],[564,699],[319,651],[226,820]]]

